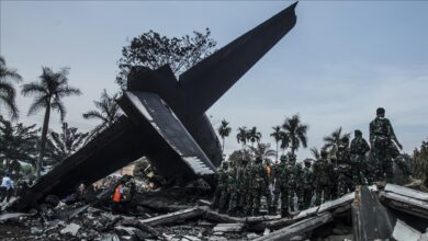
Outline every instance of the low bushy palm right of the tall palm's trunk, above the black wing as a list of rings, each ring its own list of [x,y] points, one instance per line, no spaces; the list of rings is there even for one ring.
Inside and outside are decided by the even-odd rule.
[[[79,133],[76,127],[68,127],[67,123],[63,123],[61,133],[49,133],[50,163],[48,164],[60,163],[68,156],[75,153],[82,147],[87,137],[88,133]]]

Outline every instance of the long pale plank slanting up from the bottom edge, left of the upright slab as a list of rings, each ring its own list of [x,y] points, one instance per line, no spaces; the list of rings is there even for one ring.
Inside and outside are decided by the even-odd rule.
[[[282,228],[280,230],[277,230],[274,232],[271,232],[268,236],[260,237],[258,239],[255,239],[255,241],[273,241],[273,240],[290,240],[291,238],[302,234],[305,232],[308,232],[311,230],[314,230],[315,228],[318,228],[319,226],[323,226],[325,223],[328,223],[333,220],[333,216],[330,213],[324,213],[316,217],[303,219],[294,225],[291,225],[289,227]]]

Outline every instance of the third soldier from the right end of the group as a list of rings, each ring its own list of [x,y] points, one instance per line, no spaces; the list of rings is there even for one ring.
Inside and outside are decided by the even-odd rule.
[[[337,149],[337,197],[354,190],[350,159],[349,138],[343,137]]]

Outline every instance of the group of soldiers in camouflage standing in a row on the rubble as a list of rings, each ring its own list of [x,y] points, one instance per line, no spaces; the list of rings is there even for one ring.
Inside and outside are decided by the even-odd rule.
[[[306,159],[303,165],[292,152],[273,164],[260,157],[223,162],[213,205],[229,215],[259,215],[264,196],[269,214],[278,211],[281,200],[280,213],[286,217],[296,208],[338,198],[357,185],[391,182],[393,160],[399,156],[397,147],[402,149],[385,110],[380,107],[370,123],[370,145],[357,129],[351,142],[343,137],[335,151],[322,150],[318,160]]]

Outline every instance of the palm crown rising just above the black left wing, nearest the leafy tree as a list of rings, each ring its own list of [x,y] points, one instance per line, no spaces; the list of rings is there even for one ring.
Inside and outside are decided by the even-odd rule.
[[[103,128],[113,125],[113,123],[121,116],[119,105],[115,102],[116,97],[117,94],[110,96],[104,89],[101,93],[100,101],[93,102],[95,108],[98,110],[89,111],[83,114],[83,118],[86,119],[101,120],[101,124],[95,126],[95,128],[91,131],[91,137],[100,133]]]

